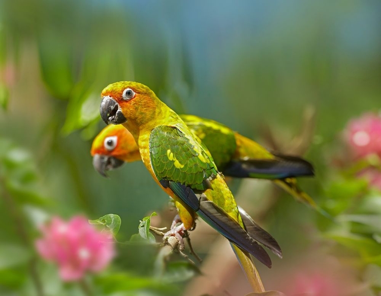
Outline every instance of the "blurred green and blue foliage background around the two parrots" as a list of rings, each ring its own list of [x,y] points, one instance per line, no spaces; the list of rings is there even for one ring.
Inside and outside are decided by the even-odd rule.
[[[217,120],[314,164],[316,177],[301,187],[340,223],[268,181],[229,180],[238,203],[283,249],[271,270],[259,264],[266,289],[378,295],[381,195],[347,169],[341,136],[349,120],[381,106],[380,16],[378,1],[2,0],[0,293],[250,292],[234,260],[221,261],[231,252],[226,241],[201,222],[192,236],[203,275],[172,269],[156,278],[157,248],[118,244],[108,269],[88,275],[88,291],[60,281],[36,255],[39,225],[53,215],[117,214],[120,242],[153,211],[152,223],[169,225],[168,196],[142,163],[108,179],[92,167],[91,141],[104,127],[100,93],[132,80],[178,113]]]

